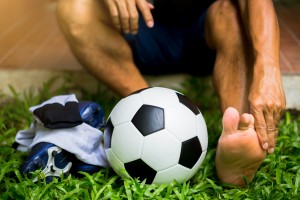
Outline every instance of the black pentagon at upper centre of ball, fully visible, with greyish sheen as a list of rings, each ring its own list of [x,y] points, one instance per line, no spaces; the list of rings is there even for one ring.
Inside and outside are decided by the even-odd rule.
[[[143,136],[150,135],[165,128],[164,109],[142,105],[133,116],[131,122]]]

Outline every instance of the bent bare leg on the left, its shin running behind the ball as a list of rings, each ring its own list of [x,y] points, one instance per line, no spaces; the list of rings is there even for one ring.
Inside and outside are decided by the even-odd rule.
[[[103,1],[60,0],[57,19],[79,62],[121,96],[148,87]]]

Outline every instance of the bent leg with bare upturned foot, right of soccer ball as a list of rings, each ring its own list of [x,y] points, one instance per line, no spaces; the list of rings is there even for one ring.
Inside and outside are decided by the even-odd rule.
[[[233,1],[219,0],[209,8],[206,39],[217,52],[213,82],[224,112],[216,154],[217,173],[223,182],[243,185],[243,176],[251,181],[266,154],[253,128],[253,116],[241,115],[249,112],[253,55]]]

